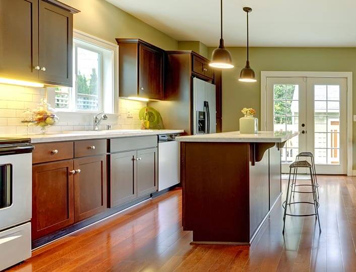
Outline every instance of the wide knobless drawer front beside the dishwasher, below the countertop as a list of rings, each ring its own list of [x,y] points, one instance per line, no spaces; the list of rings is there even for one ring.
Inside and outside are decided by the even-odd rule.
[[[110,152],[122,152],[157,147],[157,135],[110,139]]]

